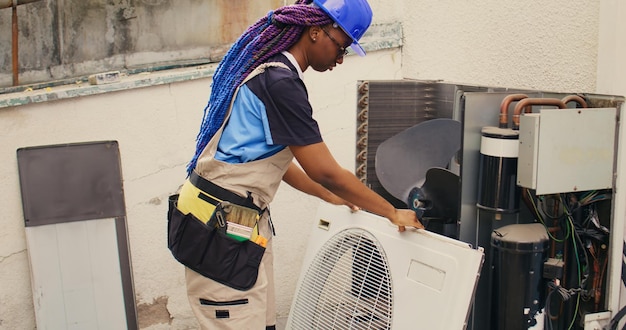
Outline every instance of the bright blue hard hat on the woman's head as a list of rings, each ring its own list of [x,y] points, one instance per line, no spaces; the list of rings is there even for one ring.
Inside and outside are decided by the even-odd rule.
[[[372,8],[367,0],[313,0],[341,29],[352,38],[350,47],[365,56],[365,50],[359,45],[359,39],[372,23]]]

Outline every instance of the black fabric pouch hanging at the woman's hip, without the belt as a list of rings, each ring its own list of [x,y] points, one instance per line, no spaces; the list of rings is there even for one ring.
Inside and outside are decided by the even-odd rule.
[[[237,290],[249,290],[256,283],[265,248],[250,241],[237,241],[226,234],[221,204],[204,224],[191,213],[176,207],[178,195],[170,196],[168,248],[183,265]]]

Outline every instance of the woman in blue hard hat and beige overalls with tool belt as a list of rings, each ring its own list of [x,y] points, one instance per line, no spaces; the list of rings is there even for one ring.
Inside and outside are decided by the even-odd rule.
[[[415,212],[395,209],[337,164],[302,81],[309,67],[343,63],[349,46],[364,56],[358,41],[371,20],[366,0],[298,0],[248,28],[219,64],[189,179],[168,215],[169,246],[187,266],[202,328],[275,328],[268,205],[281,180],[400,231],[423,228]]]

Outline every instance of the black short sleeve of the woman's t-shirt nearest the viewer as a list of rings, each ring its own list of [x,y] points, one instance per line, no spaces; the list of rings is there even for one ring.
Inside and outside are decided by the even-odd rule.
[[[266,113],[274,144],[301,146],[322,141],[302,80],[293,76],[275,80],[268,94],[271,101]]]

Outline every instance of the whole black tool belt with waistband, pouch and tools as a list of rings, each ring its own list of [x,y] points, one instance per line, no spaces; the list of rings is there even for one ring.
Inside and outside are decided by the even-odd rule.
[[[258,220],[263,210],[251,198],[236,195],[195,173],[189,180],[206,193],[198,198],[215,210],[205,223],[191,212],[184,214],[178,209],[178,194],[170,196],[168,248],[176,260],[195,272],[231,288],[249,290],[256,283],[266,241],[259,240],[258,222],[247,239],[232,234],[229,223],[233,228],[237,227],[233,223],[242,222],[251,227],[250,214]]]

